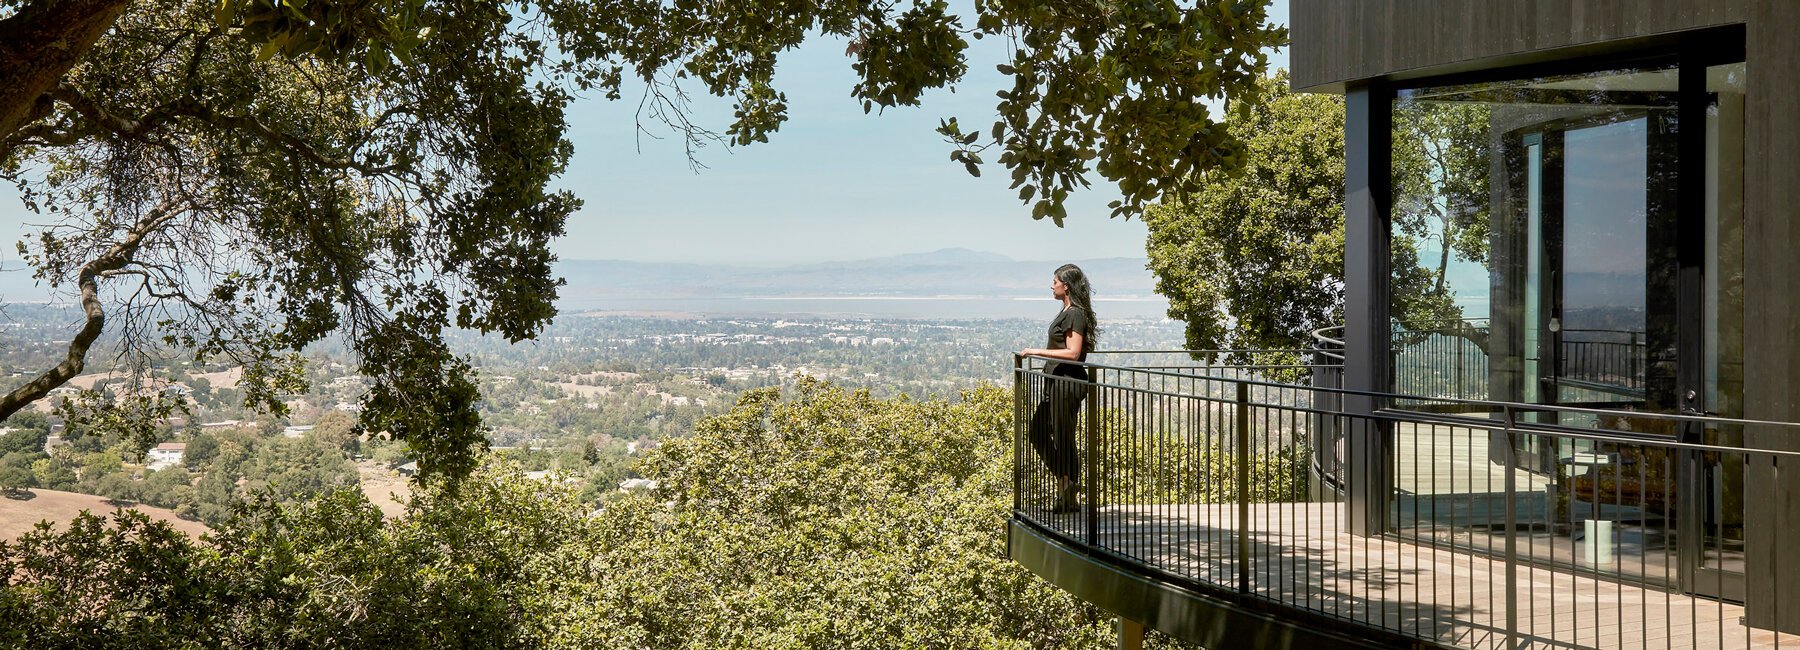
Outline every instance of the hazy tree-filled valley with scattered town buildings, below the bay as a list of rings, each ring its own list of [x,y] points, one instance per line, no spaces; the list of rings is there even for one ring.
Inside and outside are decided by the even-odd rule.
[[[54,364],[76,313],[13,304],[5,315],[0,382],[11,389]],[[580,481],[598,501],[643,486],[630,472],[634,456],[729,411],[743,391],[812,376],[884,398],[954,398],[983,382],[1006,382],[1012,353],[1042,346],[1044,326],[1024,319],[581,313],[560,317],[533,342],[455,333],[452,346],[479,371],[490,447],[535,475]],[[1120,319],[1103,328],[1102,346],[1112,349],[1174,349],[1183,337],[1170,320]],[[392,504],[416,466],[405,445],[358,427],[371,380],[340,344],[315,346],[304,357],[308,389],[281,394],[286,414],[279,416],[243,403],[238,366],[167,357],[151,360],[137,380],[126,367],[90,367],[0,429],[0,441],[41,439],[41,448],[5,454],[0,466],[25,472],[14,472],[14,483],[29,475],[36,488],[146,502],[198,520],[225,517],[230,502],[263,486],[299,497],[355,483],[371,501]],[[67,427],[72,407],[106,409],[128,398],[178,407],[148,441]],[[36,429],[40,438],[25,436]]]

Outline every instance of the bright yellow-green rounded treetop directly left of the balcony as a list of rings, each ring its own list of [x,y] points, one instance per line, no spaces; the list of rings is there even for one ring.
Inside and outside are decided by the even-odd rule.
[[[1105,645],[1105,614],[1004,556],[1008,400],[747,393],[639,465],[659,490],[605,504],[599,645]]]

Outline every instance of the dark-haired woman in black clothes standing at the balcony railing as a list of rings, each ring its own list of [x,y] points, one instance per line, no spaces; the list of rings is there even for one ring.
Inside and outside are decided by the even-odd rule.
[[[1026,348],[1019,355],[1051,358],[1044,366],[1046,385],[1037,412],[1031,414],[1031,448],[1057,477],[1057,502],[1051,511],[1076,511],[1080,502],[1082,459],[1075,448],[1075,414],[1087,398],[1087,353],[1094,349],[1094,306],[1089,297],[1087,275],[1076,265],[1062,265],[1051,274],[1049,293],[1062,301],[1062,311],[1049,322],[1049,344]]]

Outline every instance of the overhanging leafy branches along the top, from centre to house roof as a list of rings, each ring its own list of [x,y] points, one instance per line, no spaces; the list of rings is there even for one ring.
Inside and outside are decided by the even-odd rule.
[[[1067,216],[1067,196],[1094,175],[1123,193],[1112,214],[1129,216],[1165,194],[1197,191],[1202,171],[1235,169],[1242,146],[1202,101],[1255,104],[1265,49],[1287,41],[1287,29],[1269,23],[1267,0],[983,0],[974,9],[958,16],[940,0],[571,0],[547,4],[547,16],[567,52],[605,58],[572,67],[587,83],[614,92],[623,63],[652,86],[653,106],[679,106],[682,79],[733,97],[725,131],[736,144],[763,142],[787,121],[776,63],[815,31],[850,40],[859,76],[851,97],[864,112],[914,106],[925,90],[959,83],[968,36],[1004,40],[1012,54],[999,72],[1012,86],[997,92],[992,137],[947,135],[958,151],[952,162],[979,175],[981,153],[999,148],[994,160],[1010,171],[1012,187],[1031,187],[1022,202],[1033,218],[1057,223]]]

